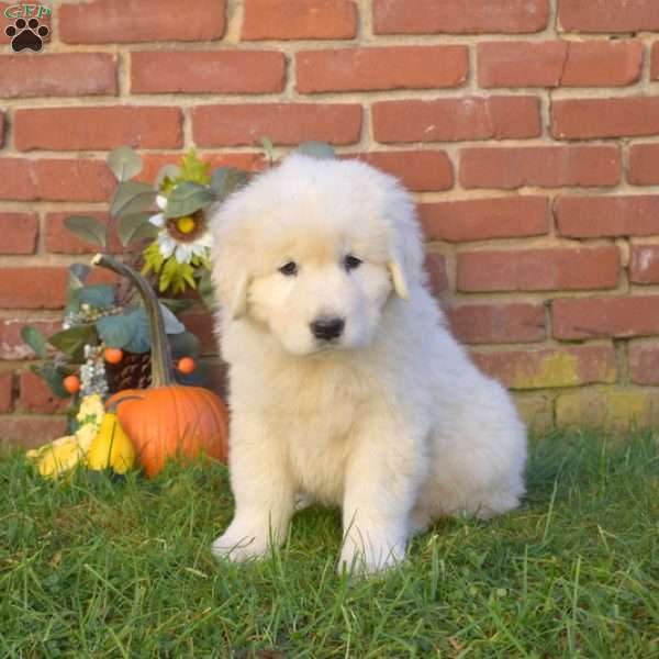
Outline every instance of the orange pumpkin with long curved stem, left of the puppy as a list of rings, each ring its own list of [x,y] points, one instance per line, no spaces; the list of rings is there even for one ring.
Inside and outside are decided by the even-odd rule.
[[[158,473],[172,457],[191,458],[203,453],[226,462],[226,405],[208,389],[175,382],[163,313],[148,282],[111,256],[99,254],[93,264],[129,278],[137,288],[149,319],[150,387],[120,391],[108,401],[108,405],[116,406],[121,426],[133,442],[146,476]]]

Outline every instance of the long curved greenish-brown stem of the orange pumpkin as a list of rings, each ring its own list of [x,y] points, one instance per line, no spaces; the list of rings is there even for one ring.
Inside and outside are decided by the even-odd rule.
[[[148,281],[136,270],[118,261],[109,254],[97,254],[91,260],[92,265],[112,270],[125,277],[135,286],[148,317],[148,331],[152,344],[152,387],[169,387],[175,383],[171,349],[165,333],[165,321],[160,311],[158,298]]]

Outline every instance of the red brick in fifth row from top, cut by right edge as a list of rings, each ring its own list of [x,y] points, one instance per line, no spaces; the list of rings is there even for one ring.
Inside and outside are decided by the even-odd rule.
[[[570,238],[659,235],[659,196],[559,197],[554,213]]]

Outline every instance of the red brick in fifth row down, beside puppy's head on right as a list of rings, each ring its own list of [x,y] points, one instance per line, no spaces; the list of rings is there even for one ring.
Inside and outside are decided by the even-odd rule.
[[[503,197],[439,201],[420,206],[428,241],[487,241],[539,236],[549,230],[546,197]]]

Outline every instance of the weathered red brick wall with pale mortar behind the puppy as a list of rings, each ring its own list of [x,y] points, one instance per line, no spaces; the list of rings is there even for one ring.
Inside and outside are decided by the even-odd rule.
[[[137,147],[146,179],[193,145],[256,169],[260,135],[417,194],[451,325],[528,418],[657,421],[657,0],[92,0],[51,26],[40,54],[0,31],[5,439],[62,429],[19,332],[57,323],[92,250],[62,221],[102,216],[107,150]]]

